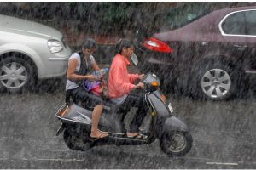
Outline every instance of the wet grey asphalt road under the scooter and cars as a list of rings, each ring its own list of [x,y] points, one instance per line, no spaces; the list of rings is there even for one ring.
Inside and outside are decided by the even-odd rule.
[[[0,94],[0,168],[256,168],[256,95],[225,102],[171,99],[194,138],[189,154],[169,158],[159,142],[69,150],[54,112],[64,88],[53,93]]]

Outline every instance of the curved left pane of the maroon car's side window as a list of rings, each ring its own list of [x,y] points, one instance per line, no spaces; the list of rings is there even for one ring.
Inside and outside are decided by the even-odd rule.
[[[230,14],[222,23],[222,29],[225,34],[246,35],[245,14]]]

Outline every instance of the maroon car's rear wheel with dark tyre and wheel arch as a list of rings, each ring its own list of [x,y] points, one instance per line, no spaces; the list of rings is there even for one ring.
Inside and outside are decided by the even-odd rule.
[[[212,59],[197,65],[193,72],[190,91],[195,99],[230,99],[241,87],[243,73],[229,61]]]

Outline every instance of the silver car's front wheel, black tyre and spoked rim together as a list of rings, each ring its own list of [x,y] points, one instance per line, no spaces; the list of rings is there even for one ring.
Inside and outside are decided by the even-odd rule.
[[[0,62],[0,90],[9,93],[20,93],[34,82],[33,67],[25,59],[14,56]]]

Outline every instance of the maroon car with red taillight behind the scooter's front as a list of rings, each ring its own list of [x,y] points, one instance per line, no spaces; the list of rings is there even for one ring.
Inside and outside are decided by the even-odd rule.
[[[140,43],[143,71],[157,71],[166,90],[176,84],[175,90],[200,99],[241,92],[246,77],[256,75],[256,6],[186,17],[189,24],[173,29],[167,22]]]

